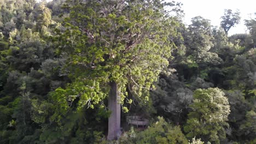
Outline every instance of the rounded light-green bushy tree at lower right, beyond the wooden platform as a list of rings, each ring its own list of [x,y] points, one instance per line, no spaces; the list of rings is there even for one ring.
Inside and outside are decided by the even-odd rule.
[[[203,141],[219,143],[225,138],[224,127],[228,126],[230,106],[219,88],[196,89],[194,103],[190,105],[184,131],[189,138],[200,137]]]

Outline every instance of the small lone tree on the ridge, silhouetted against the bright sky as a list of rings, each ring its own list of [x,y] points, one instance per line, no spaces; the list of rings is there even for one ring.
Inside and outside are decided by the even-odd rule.
[[[232,13],[231,9],[225,9],[224,16],[220,17],[222,21],[220,26],[224,29],[225,33],[228,35],[229,29],[234,27],[240,22],[240,12],[237,10],[235,13]]]

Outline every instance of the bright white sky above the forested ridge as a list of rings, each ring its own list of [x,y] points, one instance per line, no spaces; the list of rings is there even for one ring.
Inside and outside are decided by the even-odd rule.
[[[171,0],[168,0],[171,1]],[[240,10],[241,21],[236,27],[232,27],[229,35],[236,33],[245,33],[247,28],[244,20],[255,17],[256,0],[175,0],[183,3],[185,17],[184,23],[191,24],[191,18],[195,16],[202,16],[205,19],[211,20],[213,26],[220,26],[220,17],[224,15],[224,9],[231,9],[233,12],[236,9]],[[250,16],[251,14],[251,16]]]

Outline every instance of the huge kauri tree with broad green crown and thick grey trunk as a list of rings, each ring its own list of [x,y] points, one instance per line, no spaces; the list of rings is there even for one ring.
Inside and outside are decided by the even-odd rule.
[[[160,0],[67,2],[66,30],[56,39],[59,50],[68,53],[66,72],[72,82],[53,94],[62,106],[56,105],[52,119],[61,121],[58,111],[69,109],[66,99],[93,108],[108,98],[107,139],[118,139],[121,105],[132,101],[128,93],[146,103],[152,83],[168,65],[178,22],[165,7],[174,5]]]

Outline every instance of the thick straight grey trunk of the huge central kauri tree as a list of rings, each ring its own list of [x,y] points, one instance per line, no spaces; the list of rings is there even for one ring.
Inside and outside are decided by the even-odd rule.
[[[116,140],[121,135],[120,130],[120,115],[121,115],[121,105],[120,97],[118,92],[118,85],[115,82],[110,82],[110,92],[108,99],[108,107],[111,111],[111,115],[108,118],[108,140]]]

